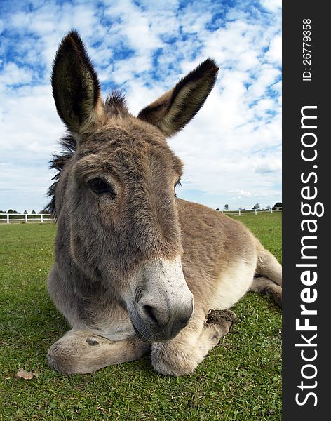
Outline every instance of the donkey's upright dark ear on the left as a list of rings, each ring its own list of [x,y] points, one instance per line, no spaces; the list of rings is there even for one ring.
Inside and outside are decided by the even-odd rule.
[[[56,109],[69,131],[84,135],[102,123],[100,83],[81,37],[71,31],[55,55],[52,88]]]

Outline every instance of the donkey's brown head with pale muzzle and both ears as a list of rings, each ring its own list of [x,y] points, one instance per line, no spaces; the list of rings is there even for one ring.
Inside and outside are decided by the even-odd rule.
[[[62,166],[54,189],[64,233],[58,243],[69,243],[70,257],[91,288],[102,283],[126,306],[146,341],[173,338],[193,312],[174,197],[182,163],[165,138],[202,107],[217,70],[206,60],[134,117],[118,93],[102,101],[76,32],[65,36],[55,56],[55,105],[74,149],[61,164],[54,161]]]

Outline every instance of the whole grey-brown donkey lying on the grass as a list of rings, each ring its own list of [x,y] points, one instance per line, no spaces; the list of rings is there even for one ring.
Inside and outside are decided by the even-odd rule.
[[[72,330],[48,350],[61,373],[139,359],[163,375],[192,373],[228,333],[248,290],[281,305],[281,265],[244,225],[175,197],[182,162],[165,139],[203,106],[218,67],[208,58],[132,116],[100,83],[76,31],[53,62],[68,129],[50,187],[58,222],[48,292]]]

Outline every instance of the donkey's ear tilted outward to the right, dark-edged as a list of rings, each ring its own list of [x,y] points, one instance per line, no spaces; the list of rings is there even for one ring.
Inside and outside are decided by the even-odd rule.
[[[215,61],[208,58],[137,117],[154,124],[167,136],[174,135],[201,109],[215,84],[218,69]]]

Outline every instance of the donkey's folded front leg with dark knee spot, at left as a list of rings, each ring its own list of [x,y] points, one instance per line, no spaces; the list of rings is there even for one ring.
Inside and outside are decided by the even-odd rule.
[[[48,363],[64,374],[92,373],[112,364],[134,361],[150,345],[137,337],[112,341],[87,330],[69,330],[48,349]]]

